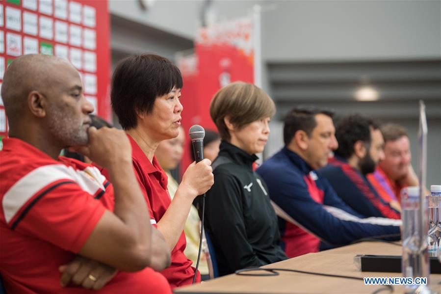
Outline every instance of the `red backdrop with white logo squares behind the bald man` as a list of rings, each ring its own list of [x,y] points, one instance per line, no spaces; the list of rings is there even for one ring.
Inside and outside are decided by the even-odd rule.
[[[6,0],[0,2],[0,84],[7,66],[23,54],[69,60],[95,113],[111,118],[110,19],[107,0]],[[7,135],[0,103],[0,136]]]

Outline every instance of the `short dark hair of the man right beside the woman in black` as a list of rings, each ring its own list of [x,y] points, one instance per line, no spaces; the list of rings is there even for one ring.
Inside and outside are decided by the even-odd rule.
[[[289,145],[297,131],[302,130],[310,136],[312,130],[314,130],[317,125],[317,121],[315,120],[316,114],[324,114],[333,118],[334,111],[311,106],[299,106],[291,109],[285,116],[283,128],[285,145]]]

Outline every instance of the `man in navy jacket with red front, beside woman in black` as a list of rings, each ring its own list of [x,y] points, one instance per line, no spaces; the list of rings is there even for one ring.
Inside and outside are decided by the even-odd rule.
[[[329,248],[369,237],[400,239],[401,221],[364,218],[315,172],[338,147],[332,115],[315,108],[291,110],[285,118],[285,147],[257,170],[275,204],[288,257],[317,252],[320,241]]]

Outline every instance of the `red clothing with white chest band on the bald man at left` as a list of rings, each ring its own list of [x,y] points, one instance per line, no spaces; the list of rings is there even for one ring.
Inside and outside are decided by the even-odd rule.
[[[113,187],[98,169],[53,160],[20,139],[5,138],[0,174],[0,274],[7,293],[170,293],[151,268],[119,272],[100,291],[60,286],[58,267],[72,261],[106,203],[113,203],[106,200]]]

